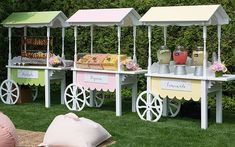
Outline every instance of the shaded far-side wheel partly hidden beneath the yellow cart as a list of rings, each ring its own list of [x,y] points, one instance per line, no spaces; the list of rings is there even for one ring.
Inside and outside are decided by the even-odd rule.
[[[180,112],[181,102],[177,99],[169,99],[169,114],[170,117],[175,117]]]

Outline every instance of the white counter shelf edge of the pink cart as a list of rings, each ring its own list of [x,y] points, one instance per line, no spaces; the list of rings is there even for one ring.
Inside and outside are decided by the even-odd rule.
[[[96,70],[96,69],[81,69],[81,68],[72,68],[71,70],[74,71],[85,71],[85,72],[98,72],[98,73],[119,73],[119,74],[145,74],[147,73],[147,70],[137,70],[137,71],[112,71],[112,70]]]

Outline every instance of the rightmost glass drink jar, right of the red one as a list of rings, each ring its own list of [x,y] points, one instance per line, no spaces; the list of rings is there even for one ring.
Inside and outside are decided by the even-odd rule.
[[[193,65],[195,66],[203,66],[203,47],[197,46],[193,51]]]

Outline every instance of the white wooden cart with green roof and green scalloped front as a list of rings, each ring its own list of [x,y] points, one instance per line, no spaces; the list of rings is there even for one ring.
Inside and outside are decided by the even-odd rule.
[[[64,35],[67,17],[61,11],[45,12],[16,12],[8,16],[3,22],[3,26],[8,28],[9,54],[7,67],[7,80],[1,84],[0,96],[4,103],[15,104],[19,98],[19,85],[30,85],[34,88],[33,99],[37,97],[37,86],[45,86],[45,107],[50,107],[50,81],[59,81],[61,83],[61,103],[63,102],[63,93],[65,90],[65,70],[64,67],[51,67],[49,65],[50,54],[50,29],[62,28],[62,58],[64,58]],[[15,65],[12,60],[12,29],[23,28],[24,50],[27,51],[27,28],[43,28],[47,30],[46,37],[41,40],[46,45],[46,65],[26,66]],[[38,39],[39,40],[39,39]],[[38,41],[37,40],[37,41]],[[35,41],[35,40],[34,40]],[[32,42],[28,40],[28,42]],[[20,47],[19,47],[20,49]]]

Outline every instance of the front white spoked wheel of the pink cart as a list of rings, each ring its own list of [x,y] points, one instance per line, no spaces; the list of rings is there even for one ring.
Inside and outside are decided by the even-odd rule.
[[[86,104],[86,95],[82,87],[70,84],[64,92],[64,101],[69,110],[81,111]]]

